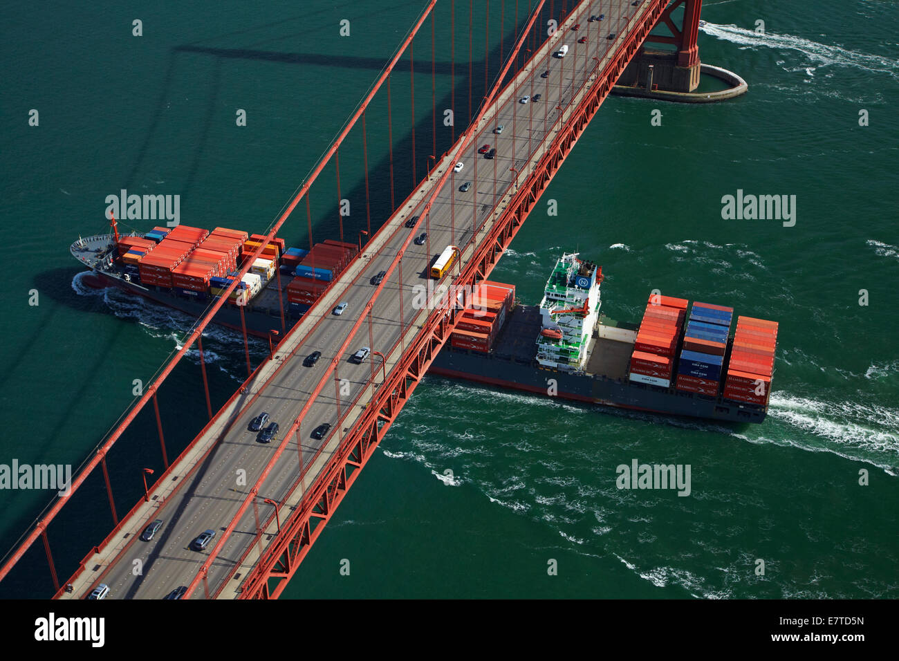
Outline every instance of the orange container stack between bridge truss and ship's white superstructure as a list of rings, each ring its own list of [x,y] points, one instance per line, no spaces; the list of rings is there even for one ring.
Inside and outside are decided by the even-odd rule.
[[[515,285],[482,281],[449,335],[450,346],[488,353],[514,301]]]

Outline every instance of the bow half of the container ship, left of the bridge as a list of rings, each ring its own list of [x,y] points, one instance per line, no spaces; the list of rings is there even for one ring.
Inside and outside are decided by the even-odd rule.
[[[120,234],[112,218],[110,234],[79,237],[69,250],[91,270],[87,284],[115,286],[202,317],[265,240],[242,230],[185,225]],[[247,333],[268,337],[272,331],[286,332],[358,252],[357,246],[340,241],[326,240],[305,250],[274,238],[212,320],[240,331],[243,308]]]

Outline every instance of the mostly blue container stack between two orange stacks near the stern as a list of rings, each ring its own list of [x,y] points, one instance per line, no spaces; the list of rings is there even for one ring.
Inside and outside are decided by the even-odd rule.
[[[683,334],[675,387],[717,397],[734,308],[694,302]]]

